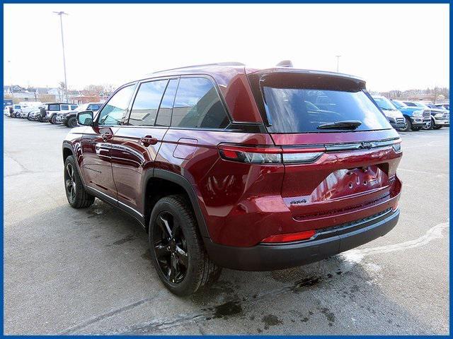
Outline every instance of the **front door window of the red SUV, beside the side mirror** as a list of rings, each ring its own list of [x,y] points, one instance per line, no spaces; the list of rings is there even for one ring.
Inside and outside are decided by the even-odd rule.
[[[108,100],[99,114],[98,124],[119,125],[124,121],[129,106],[130,98],[134,93],[135,85],[121,88]]]

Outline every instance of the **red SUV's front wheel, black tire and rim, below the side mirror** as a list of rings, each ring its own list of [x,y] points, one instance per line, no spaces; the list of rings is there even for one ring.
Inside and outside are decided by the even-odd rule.
[[[72,155],[64,161],[64,191],[69,205],[73,208],[86,208],[93,205],[94,196],[86,191],[77,170],[76,160]]]

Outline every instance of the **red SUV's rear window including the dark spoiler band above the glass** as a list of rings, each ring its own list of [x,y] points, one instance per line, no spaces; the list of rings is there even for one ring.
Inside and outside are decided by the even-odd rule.
[[[263,78],[263,93],[268,129],[271,133],[328,133],[391,129],[384,114],[374,105],[362,86],[345,81],[294,76]],[[323,124],[360,121],[355,129],[319,129]]]

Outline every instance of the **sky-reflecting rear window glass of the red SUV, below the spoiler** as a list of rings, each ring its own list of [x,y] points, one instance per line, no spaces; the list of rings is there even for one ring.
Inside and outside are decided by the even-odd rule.
[[[386,117],[362,91],[273,88],[264,86],[265,110],[274,133],[326,133],[322,124],[358,120],[355,131],[389,129]]]

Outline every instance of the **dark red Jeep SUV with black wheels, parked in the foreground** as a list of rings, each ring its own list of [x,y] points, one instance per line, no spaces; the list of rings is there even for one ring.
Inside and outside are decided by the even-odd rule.
[[[209,64],[127,83],[63,142],[69,204],[149,233],[164,285],[319,261],[398,221],[401,139],[353,76]]]

